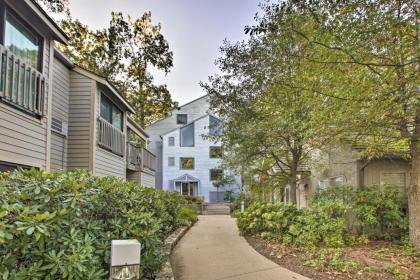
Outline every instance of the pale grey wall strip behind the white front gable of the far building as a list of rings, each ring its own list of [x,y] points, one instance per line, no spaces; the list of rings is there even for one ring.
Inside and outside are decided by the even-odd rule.
[[[176,124],[177,114],[187,114],[188,122],[191,122],[206,115],[209,108],[209,98],[206,95],[181,106],[179,110],[173,110],[167,118],[146,127],[146,133],[150,135],[150,144],[148,148],[156,155],[156,188],[161,189],[165,184],[165,182],[162,181],[162,139],[160,136],[174,128],[182,126]]]

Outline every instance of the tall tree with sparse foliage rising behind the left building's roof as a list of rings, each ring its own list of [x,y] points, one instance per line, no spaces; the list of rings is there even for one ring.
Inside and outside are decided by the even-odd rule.
[[[177,106],[165,85],[155,85],[150,68],[168,73],[173,54],[154,25],[151,13],[132,19],[112,13],[110,25],[92,31],[78,20],[62,22],[70,37],[65,53],[77,64],[107,77],[134,105],[141,126],[164,117]]]

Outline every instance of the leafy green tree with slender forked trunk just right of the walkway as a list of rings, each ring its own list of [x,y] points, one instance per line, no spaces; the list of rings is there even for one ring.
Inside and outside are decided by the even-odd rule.
[[[297,14],[284,16],[284,24],[298,24]],[[270,29],[246,42],[226,42],[221,50],[222,75],[204,88],[224,120],[225,164],[246,163],[256,174],[287,182],[296,202],[298,175],[306,171],[312,151],[329,141],[318,120],[320,108],[333,99],[305,86],[312,74],[305,63],[306,41],[289,30]],[[277,172],[270,172],[273,167]]]

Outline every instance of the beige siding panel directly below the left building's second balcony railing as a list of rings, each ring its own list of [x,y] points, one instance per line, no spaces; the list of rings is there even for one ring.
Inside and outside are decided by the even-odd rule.
[[[95,175],[125,178],[125,171],[125,158],[96,147]]]

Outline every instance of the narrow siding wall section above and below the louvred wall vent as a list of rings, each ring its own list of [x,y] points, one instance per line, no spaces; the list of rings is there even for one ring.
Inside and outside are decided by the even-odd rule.
[[[68,122],[70,70],[57,59],[54,62],[52,84],[52,117]],[[51,170],[67,170],[67,137],[51,134]]]

